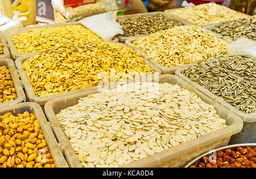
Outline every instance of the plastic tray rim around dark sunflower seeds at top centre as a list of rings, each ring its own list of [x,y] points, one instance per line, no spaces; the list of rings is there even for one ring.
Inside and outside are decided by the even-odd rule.
[[[132,18],[134,16],[146,16],[146,15],[150,15],[150,16],[154,16],[154,15],[163,15],[164,17],[166,18],[169,18],[169,19],[173,19],[173,20],[177,20],[181,23],[183,23],[184,25],[191,25],[192,23],[190,22],[187,22],[185,20],[182,20],[182,19],[176,19],[175,16],[173,16],[172,14],[167,14],[167,13],[164,13],[164,12],[148,12],[148,13],[142,13],[142,14],[133,14],[133,15],[125,15],[125,16],[118,16],[117,19],[127,19],[127,18]],[[148,33],[150,34],[150,33]],[[148,35],[147,34],[147,35]],[[119,39],[119,42],[122,42],[124,43],[127,39],[130,39],[130,38],[133,38],[133,37],[143,37],[143,36],[146,36],[146,35],[138,35],[138,36],[128,36],[128,37],[123,37],[121,35],[118,35],[118,39]]]

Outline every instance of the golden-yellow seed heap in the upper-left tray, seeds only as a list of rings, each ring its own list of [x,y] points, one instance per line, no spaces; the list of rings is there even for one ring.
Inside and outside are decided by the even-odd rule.
[[[88,39],[103,41],[101,37],[83,25],[64,25],[35,29],[27,33],[11,36],[16,52],[19,54],[42,52],[44,49],[58,47],[63,44],[77,44]]]

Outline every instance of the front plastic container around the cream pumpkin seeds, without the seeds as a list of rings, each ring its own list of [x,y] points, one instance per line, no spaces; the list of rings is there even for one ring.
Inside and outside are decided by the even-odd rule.
[[[218,115],[226,120],[228,127],[180,144],[179,146],[175,146],[158,154],[148,156],[144,159],[135,161],[134,163],[127,164],[123,166],[124,168],[183,167],[188,163],[188,161],[206,151],[209,151],[211,148],[226,146],[229,143],[230,137],[242,130],[243,122],[240,117],[233,112],[230,112],[224,105],[215,103],[207,95],[201,93],[199,90],[191,86],[191,84],[186,83],[183,79],[175,75],[160,75],[159,83],[179,84],[182,88],[195,92],[203,101],[205,101],[205,103],[212,104],[214,106]],[[85,97],[96,92],[97,90],[94,90],[78,93],[72,96],[60,97],[59,99],[48,101],[45,105],[46,116],[52,124],[52,129],[57,140],[64,148],[64,155],[69,167],[81,167],[81,164],[77,159],[75,151],[73,151],[73,148],[59,121],[57,120],[56,114],[62,109],[77,104],[81,97]]]

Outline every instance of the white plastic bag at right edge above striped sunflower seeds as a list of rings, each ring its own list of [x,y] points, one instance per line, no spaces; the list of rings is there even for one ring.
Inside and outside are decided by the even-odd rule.
[[[229,56],[251,56],[256,58],[256,42],[241,38],[228,46]]]

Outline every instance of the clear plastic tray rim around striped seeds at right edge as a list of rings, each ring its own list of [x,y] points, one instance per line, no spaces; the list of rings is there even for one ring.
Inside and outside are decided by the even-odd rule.
[[[191,79],[187,78],[185,75],[183,75],[183,71],[187,69],[187,67],[184,67],[183,69],[179,69],[176,71],[175,75],[182,78],[185,82],[191,84],[191,86],[197,88],[200,92],[204,93],[205,95],[209,96],[210,99],[213,101],[216,101],[216,103],[220,103],[221,105],[226,106],[230,111],[237,114],[237,116],[241,117],[244,122],[256,122],[256,112],[251,114],[246,114],[241,112],[240,110],[236,109],[234,106],[228,104],[224,99],[221,97],[218,97],[214,95],[212,92],[210,92],[207,88],[204,88],[200,84],[197,84],[196,82],[193,82]]]

